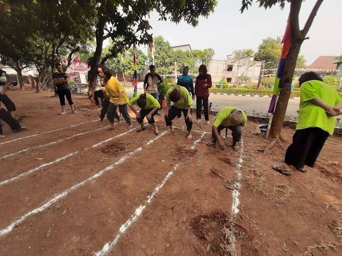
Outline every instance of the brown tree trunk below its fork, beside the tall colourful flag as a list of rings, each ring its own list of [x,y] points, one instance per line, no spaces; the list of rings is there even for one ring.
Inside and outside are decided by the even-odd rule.
[[[300,47],[302,42],[292,42],[289,49],[289,53],[286,56],[284,74],[280,80],[280,87],[283,90],[279,93],[279,98],[277,101],[276,110],[274,112],[270,136],[277,139],[281,137],[282,127],[284,123],[284,117],[286,113],[287,104],[289,102],[290,94],[291,94],[291,83],[293,78],[293,73],[295,71],[296,61],[299,54]]]

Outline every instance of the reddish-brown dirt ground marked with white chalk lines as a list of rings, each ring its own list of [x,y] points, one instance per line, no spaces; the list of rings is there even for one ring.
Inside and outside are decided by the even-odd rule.
[[[266,149],[251,121],[240,152],[231,137],[220,152],[204,122],[193,140],[183,119],[165,135],[163,111],[159,136],[136,121],[108,132],[84,95],[64,115],[52,92],[8,95],[28,129],[0,140],[0,255],[341,255],[340,137],[288,177],[271,165],[289,143]]]

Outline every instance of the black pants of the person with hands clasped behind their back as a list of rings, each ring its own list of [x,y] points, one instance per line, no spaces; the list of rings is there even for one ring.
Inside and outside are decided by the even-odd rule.
[[[285,154],[285,163],[303,168],[313,167],[329,134],[318,127],[296,130]]]

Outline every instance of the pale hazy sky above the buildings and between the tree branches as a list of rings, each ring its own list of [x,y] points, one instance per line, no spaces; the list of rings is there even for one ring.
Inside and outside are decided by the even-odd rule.
[[[254,0],[254,2],[256,2]],[[303,2],[299,15],[300,29],[316,0]],[[218,0],[218,4],[207,19],[200,17],[197,27],[181,22],[158,21],[153,13],[149,23],[153,37],[162,36],[171,46],[190,44],[191,49],[215,51],[213,59],[225,60],[227,55],[237,49],[253,49],[267,37],[283,36],[290,12],[290,4],[283,10],[279,6],[265,10],[259,3],[253,3],[243,14],[240,13],[240,0]],[[342,54],[342,33],[340,15],[342,1],[324,0],[301,47],[307,65],[311,65],[319,56],[339,56]],[[147,54],[147,47],[139,47]],[[157,53],[156,53],[157,54]]]

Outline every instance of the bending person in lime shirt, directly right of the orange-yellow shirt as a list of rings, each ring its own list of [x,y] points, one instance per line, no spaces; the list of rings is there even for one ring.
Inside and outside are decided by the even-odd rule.
[[[139,113],[133,107],[134,104],[137,104],[139,107],[141,107],[141,110],[139,111]],[[154,134],[159,135],[157,124],[155,123],[154,118],[153,118],[160,108],[160,104],[158,100],[156,100],[152,95],[148,93],[144,93],[144,94],[140,94],[132,98],[130,101],[128,101],[128,105],[132,109],[132,111],[135,113],[137,117],[137,121],[141,125],[141,128],[137,131],[137,133],[140,133],[145,130],[143,119],[147,115],[146,116],[147,121],[149,124],[153,126]]]

